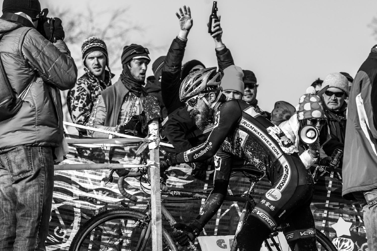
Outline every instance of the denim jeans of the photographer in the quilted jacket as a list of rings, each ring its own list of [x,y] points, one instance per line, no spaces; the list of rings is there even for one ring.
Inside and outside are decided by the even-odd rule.
[[[0,250],[46,250],[54,188],[51,147],[0,154]]]

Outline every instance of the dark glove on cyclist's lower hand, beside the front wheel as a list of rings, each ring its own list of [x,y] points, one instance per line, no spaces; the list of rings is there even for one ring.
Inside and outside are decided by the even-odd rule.
[[[176,228],[178,231],[173,231],[173,238],[181,246],[187,246],[189,241],[192,242],[195,240],[195,238],[198,237],[200,232],[203,230],[199,223],[196,222],[190,223],[189,225],[176,223],[174,224],[174,228]]]

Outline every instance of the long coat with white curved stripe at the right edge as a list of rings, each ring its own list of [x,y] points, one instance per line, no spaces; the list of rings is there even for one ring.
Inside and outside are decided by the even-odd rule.
[[[357,72],[348,101],[343,157],[346,199],[377,188],[377,45]]]

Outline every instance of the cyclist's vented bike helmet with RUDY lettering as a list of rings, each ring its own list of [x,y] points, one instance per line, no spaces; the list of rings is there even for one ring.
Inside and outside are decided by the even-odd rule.
[[[216,71],[216,67],[193,71],[182,81],[179,99],[185,102],[198,94],[221,90],[220,84],[220,73]]]

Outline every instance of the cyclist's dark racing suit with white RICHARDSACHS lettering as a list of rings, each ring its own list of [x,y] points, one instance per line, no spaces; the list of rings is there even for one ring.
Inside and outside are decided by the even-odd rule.
[[[273,184],[251,213],[270,230],[284,223],[286,216],[300,205],[307,205],[308,201],[310,205],[313,179],[300,161],[296,147],[279,127],[257,113],[247,102],[231,100],[222,103],[207,141],[178,153],[176,161],[198,162],[213,155],[213,190],[196,218],[202,226],[220,208],[227,193],[232,164],[239,160],[250,162]],[[314,220],[309,225],[308,228],[314,228]]]

